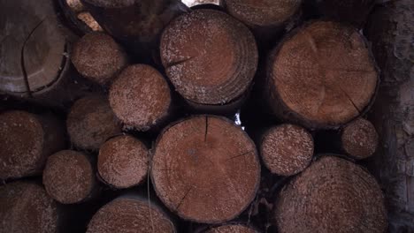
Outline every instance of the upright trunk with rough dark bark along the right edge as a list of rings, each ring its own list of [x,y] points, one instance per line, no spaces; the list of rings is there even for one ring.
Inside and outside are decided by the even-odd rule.
[[[365,34],[382,70],[372,122],[380,134],[372,170],[389,207],[391,232],[414,230],[414,3],[387,1],[374,9]]]

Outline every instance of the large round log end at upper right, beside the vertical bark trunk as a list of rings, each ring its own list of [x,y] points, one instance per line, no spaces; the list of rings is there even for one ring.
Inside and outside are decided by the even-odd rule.
[[[338,128],[370,107],[378,74],[363,36],[353,27],[313,21],[272,52],[265,96],[285,120]]]

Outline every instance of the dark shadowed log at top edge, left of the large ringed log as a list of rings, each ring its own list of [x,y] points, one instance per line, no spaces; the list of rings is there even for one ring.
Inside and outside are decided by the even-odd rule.
[[[177,15],[188,11],[179,0],[81,0],[108,34],[148,62],[157,51],[159,35]]]

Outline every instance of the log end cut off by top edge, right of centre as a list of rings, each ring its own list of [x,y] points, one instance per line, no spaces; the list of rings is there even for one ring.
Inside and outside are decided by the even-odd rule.
[[[226,11],[248,26],[280,26],[299,11],[301,0],[222,0]]]

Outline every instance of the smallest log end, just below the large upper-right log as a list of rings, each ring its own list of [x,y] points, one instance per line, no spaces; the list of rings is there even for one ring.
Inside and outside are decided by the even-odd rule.
[[[374,154],[378,140],[375,127],[364,118],[347,124],[341,134],[342,149],[356,159],[366,159]]]

